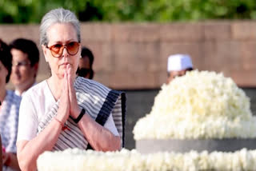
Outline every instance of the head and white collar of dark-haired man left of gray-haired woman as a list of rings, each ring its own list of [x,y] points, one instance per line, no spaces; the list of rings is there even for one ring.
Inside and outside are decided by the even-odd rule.
[[[15,93],[22,96],[36,82],[39,50],[33,41],[25,38],[15,39],[10,48],[13,56],[10,81],[14,84]]]

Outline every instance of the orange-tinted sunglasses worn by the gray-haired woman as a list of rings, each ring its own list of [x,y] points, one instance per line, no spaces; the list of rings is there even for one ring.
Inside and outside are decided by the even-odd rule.
[[[55,57],[55,58],[60,58],[63,54],[64,48],[66,48],[66,51],[70,55],[75,55],[78,54],[80,43],[78,42],[69,42],[66,45],[62,45],[60,43],[55,44],[53,46],[46,46],[47,49],[50,50],[50,53]]]

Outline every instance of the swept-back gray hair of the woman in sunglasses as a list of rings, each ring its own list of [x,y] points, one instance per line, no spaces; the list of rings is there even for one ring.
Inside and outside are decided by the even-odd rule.
[[[80,34],[80,24],[78,18],[70,10],[64,10],[63,8],[58,8],[55,10],[50,10],[42,18],[40,26],[40,44],[47,45],[49,40],[47,38],[47,30],[50,26],[56,23],[70,23],[74,26],[77,32],[78,42],[81,42]]]

